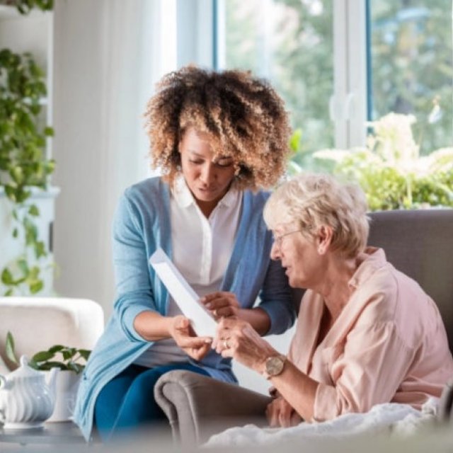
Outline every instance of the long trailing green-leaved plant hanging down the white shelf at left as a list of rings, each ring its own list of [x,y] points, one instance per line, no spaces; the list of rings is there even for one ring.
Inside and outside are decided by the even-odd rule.
[[[38,234],[40,210],[30,200],[47,189],[55,168],[46,156],[53,130],[42,124],[45,96],[45,77],[33,57],[0,50],[0,195],[7,200],[2,209],[10,212],[12,238],[22,248],[0,269],[4,295],[18,289],[35,294],[44,286],[41,270],[48,251]]]

